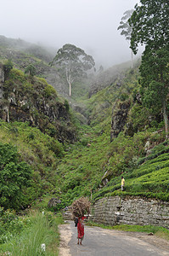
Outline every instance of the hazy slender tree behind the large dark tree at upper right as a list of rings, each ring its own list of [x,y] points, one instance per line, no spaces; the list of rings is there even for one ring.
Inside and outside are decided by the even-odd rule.
[[[133,13],[133,9],[127,10],[121,18],[120,26],[117,27],[117,30],[121,29],[121,35],[125,36],[127,41],[131,40],[132,27],[130,26],[128,20]]]

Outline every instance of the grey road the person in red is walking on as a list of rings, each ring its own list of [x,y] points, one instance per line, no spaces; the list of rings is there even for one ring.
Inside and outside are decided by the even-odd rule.
[[[85,225],[82,246],[77,245],[74,223],[59,226],[59,256],[169,256],[169,242],[143,233],[104,230]]]

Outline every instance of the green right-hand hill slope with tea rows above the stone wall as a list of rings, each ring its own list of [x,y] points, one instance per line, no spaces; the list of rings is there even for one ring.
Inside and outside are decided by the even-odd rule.
[[[121,84],[115,80],[79,101],[90,125],[80,126],[80,141],[70,146],[59,164],[60,207],[82,195],[98,200],[122,193],[168,201],[164,124],[160,113],[153,114],[141,104],[138,75],[136,65],[123,72]],[[125,192],[121,192],[121,174],[126,179]]]

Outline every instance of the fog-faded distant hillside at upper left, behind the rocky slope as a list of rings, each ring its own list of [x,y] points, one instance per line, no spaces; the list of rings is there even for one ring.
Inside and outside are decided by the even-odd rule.
[[[68,96],[69,88],[57,73],[55,67],[48,63],[53,60],[57,49],[46,49],[37,44],[27,43],[21,39],[5,38],[0,36],[0,61],[11,60],[14,67],[25,71],[25,67],[36,67],[37,77],[44,78],[53,84],[60,96]]]

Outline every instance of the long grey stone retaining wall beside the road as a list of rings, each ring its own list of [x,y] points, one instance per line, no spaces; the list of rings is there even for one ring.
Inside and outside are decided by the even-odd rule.
[[[169,202],[138,197],[102,198],[91,209],[99,224],[156,225],[169,229]]]

